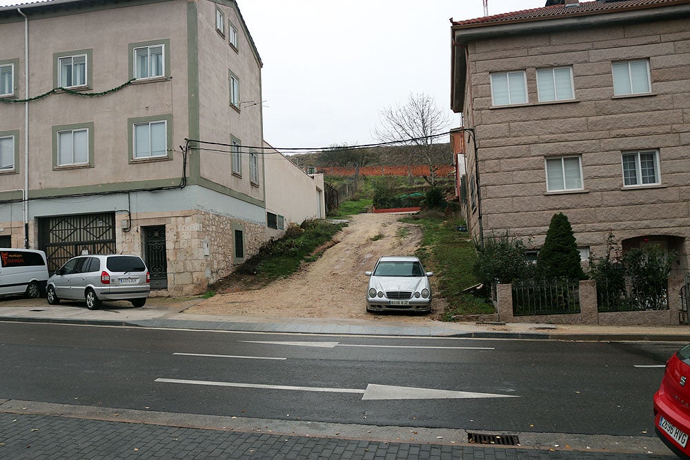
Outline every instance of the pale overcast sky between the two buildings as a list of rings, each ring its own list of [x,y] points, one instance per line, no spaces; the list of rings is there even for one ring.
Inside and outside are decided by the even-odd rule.
[[[0,0],[0,5],[27,3]],[[277,148],[373,143],[379,111],[410,93],[451,105],[451,23],[482,0],[237,0],[264,62],[264,138]],[[489,14],[546,0],[489,0]],[[450,126],[449,126],[450,127]]]

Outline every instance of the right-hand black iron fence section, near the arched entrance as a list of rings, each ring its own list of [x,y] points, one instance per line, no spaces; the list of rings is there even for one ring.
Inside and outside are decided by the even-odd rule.
[[[597,306],[599,312],[668,310],[668,281],[631,277],[621,281],[598,280]]]

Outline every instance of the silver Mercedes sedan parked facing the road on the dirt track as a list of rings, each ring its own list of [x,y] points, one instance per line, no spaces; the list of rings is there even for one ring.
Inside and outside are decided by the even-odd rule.
[[[381,257],[369,277],[366,311],[431,312],[431,285],[422,262],[413,256]]]

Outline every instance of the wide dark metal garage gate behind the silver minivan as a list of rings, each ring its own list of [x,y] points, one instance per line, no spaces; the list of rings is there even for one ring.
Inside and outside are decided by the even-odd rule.
[[[39,249],[46,252],[48,272],[86,250],[114,254],[115,212],[39,218]]]

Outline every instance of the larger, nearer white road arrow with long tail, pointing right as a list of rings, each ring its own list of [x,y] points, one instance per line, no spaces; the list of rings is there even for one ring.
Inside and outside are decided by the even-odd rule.
[[[262,390],[361,393],[363,400],[519,398],[519,396],[514,394],[491,394],[467,391],[435,390],[434,388],[413,388],[406,386],[375,385],[373,383],[369,383],[366,386],[365,390],[359,390],[357,388],[320,388],[311,386],[266,385],[264,383],[237,383],[182,379],[156,379],[155,381],[161,383],[185,383],[188,385],[228,386],[235,388],[259,388]]]

